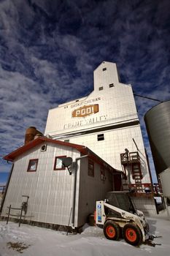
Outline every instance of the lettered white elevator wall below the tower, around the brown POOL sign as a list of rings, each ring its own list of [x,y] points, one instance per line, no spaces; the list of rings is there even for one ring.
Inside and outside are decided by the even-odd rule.
[[[93,104],[98,104],[98,113],[86,117],[72,117],[73,110]],[[79,102],[67,102],[49,110],[45,135],[50,134],[58,138],[58,135],[67,132],[85,131],[136,120],[138,116],[131,86],[115,83],[114,87],[109,88],[108,84],[102,91],[96,89],[88,97],[79,99]]]

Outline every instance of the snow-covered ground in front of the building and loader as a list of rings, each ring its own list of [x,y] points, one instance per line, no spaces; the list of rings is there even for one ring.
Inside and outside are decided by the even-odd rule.
[[[69,234],[18,223],[0,221],[0,256],[127,256],[127,255],[170,255],[170,221],[166,214],[147,219],[155,243],[161,246],[131,246],[122,239],[109,241],[98,227],[85,225],[81,234]],[[13,248],[12,248],[13,247]]]

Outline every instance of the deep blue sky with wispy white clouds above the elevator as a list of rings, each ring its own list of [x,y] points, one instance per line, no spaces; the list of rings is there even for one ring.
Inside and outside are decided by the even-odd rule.
[[[93,91],[93,70],[117,63],[136,94],[170,99],[169,0],[0,0],[0,156],[44,132],[47,112]],[[136,97],[144,113],[158,104]],[[0,160],[0,183],[11,165]],[[155,178],[154,178],[155,179]]]

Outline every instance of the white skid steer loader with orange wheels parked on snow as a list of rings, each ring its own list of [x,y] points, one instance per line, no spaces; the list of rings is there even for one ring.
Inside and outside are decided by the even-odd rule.
[[[142,211],[136,210],[128,192],[109,192],[107,199],[96,202],[96,225],[104,236],[118,240],[122,235],[128,244],[138,246],[149,241],[149,225]]]

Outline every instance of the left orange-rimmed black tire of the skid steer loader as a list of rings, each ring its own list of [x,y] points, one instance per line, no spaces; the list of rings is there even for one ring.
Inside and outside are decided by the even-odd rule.
[[[104,236],[109,240],[118,240],[120,238],[120,227],[112,220],[104,223]]]

